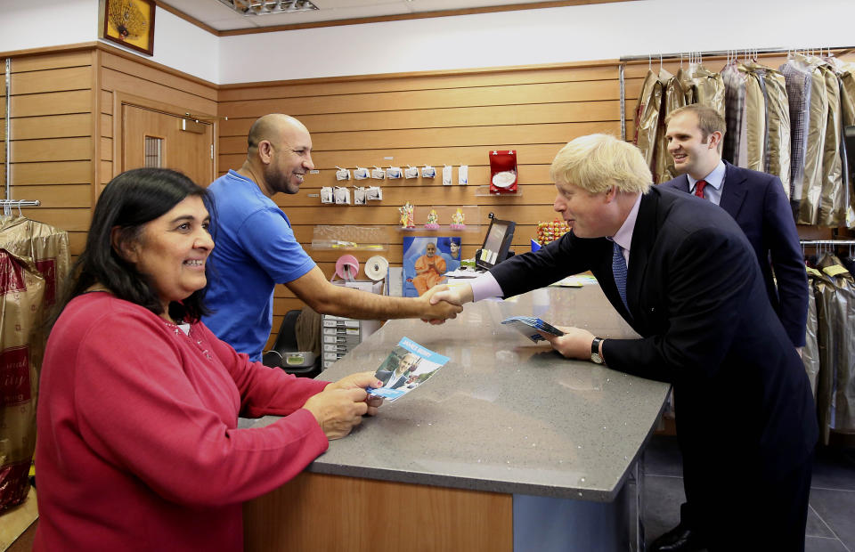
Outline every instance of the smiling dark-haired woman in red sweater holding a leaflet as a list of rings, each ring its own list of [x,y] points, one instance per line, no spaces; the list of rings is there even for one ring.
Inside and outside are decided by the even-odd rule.
[[[293,377],[199,321],[213,214],[166,169],[104,188],[45,352],[36,550],[240,550],[240,503],[376,412],[371,372]]]

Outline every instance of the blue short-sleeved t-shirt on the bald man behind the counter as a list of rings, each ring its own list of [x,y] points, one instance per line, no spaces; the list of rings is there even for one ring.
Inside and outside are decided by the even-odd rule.
[[[273,288],[315,266],[294,238],[288,217],[258,185],[234,171],[208,187],[214,197],[214,250],[202,321],[239,353],[261,360],[273,327]]]

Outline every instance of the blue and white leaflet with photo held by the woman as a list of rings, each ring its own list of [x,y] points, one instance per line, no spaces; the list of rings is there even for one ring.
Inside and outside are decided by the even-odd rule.
[[[402,337],[386,360],[374,372],[382,387],[371,387],[368,394],[394,402],[428,380],[448,362],[448,357],[434,353],[409,337]]]

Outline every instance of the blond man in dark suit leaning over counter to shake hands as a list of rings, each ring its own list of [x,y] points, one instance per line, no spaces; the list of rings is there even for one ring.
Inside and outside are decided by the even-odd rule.
[[[516,296],[593,272],[641,337],[543,337],[568,358],[673,384],[709,550],[803,550],[815,406],[745,233],[708,201],[652,186],[639,150],[613,136],[569,142],[550,172],[553,208],[573,230],[431,300]]]

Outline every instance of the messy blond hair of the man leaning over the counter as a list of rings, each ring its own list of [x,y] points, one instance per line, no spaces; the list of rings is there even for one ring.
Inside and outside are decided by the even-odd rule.
[[[647,193],[653,181],[639,149],[610,134],[589,134],[568,142],[552,160],[550,178],[590,193],[612,186],[627,193]]]

